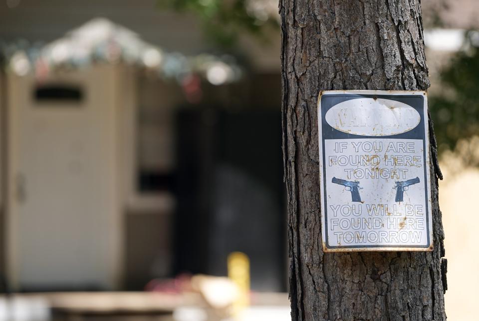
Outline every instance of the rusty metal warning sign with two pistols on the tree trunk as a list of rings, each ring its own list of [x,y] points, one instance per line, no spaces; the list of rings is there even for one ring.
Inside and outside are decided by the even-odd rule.
[[[318,137],[324,251],[431,251],[426,93],[323,91]]]

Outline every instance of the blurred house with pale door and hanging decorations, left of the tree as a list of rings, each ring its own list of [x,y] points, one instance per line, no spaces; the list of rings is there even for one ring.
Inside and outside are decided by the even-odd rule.
[[[285,290],[279,39],[205,54],[194,17],[153,0],[7,1],[0,30],[13,290],[226,275],[233,251],[253,289]]]

